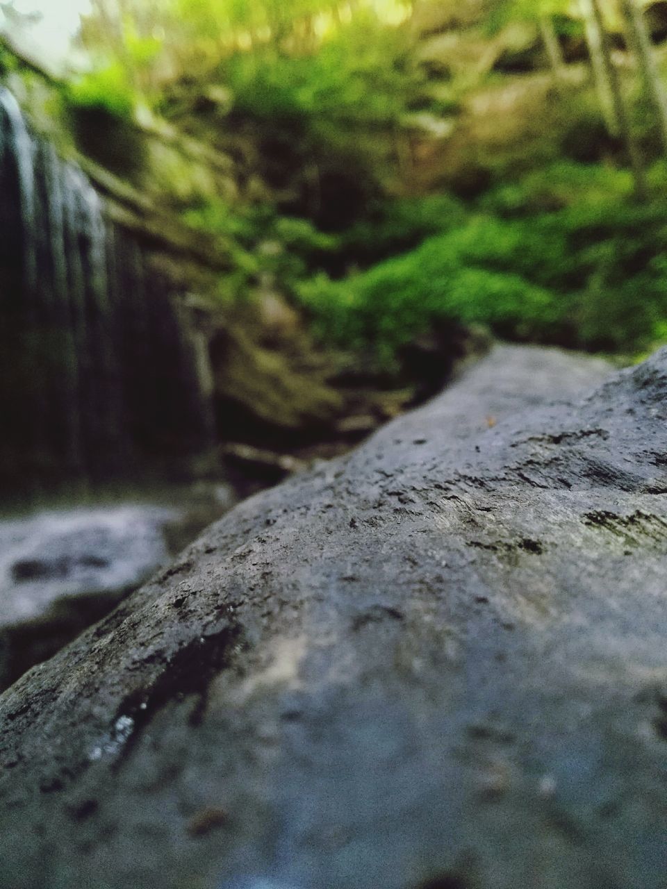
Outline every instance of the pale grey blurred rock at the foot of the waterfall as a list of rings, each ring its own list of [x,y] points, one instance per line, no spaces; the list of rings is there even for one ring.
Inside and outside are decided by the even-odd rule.
[[[50,510],[0,522],[0,687],[58,649],[168,559],[173,509]]]

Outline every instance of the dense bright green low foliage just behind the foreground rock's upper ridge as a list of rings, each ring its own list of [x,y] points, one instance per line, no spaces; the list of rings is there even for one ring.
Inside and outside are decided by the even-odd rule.
[[[299,295],[321,336],[374,348],[382,364],[442,317],[504,338],[636,350],[667,317],[667,207],[632,203],[630,188],[624,172],[559,164],[498,188],[486,212],[416,250],[342,281],[317,276]]]

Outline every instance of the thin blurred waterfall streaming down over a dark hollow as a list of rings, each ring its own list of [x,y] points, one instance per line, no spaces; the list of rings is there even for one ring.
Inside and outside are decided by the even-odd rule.
[[[210,445],[176,303],[0,87],[0,483],[132,477]]]

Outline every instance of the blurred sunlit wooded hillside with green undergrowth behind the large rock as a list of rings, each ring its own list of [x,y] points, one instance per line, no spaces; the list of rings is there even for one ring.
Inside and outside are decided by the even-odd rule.
[[[58,101],[224,257],[221,305],[276,293],[389,372],[450,322],[636,356],[667,339],[665,37],[642,0],[93,0]]]

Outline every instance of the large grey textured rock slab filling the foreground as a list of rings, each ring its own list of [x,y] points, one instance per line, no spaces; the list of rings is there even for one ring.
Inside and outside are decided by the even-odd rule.
[[[496,348],[13,685],[0,885],[663,887],[667,350],[607,370]]]

